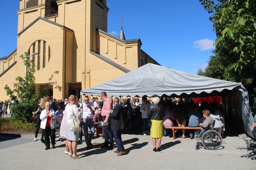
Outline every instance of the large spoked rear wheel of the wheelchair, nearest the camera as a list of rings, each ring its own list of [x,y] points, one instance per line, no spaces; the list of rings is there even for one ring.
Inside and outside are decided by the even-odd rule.
[[[205,149],[215,150],[221,146],[222,137],[217,131],[209,130],[203,133],[201,141]]]

